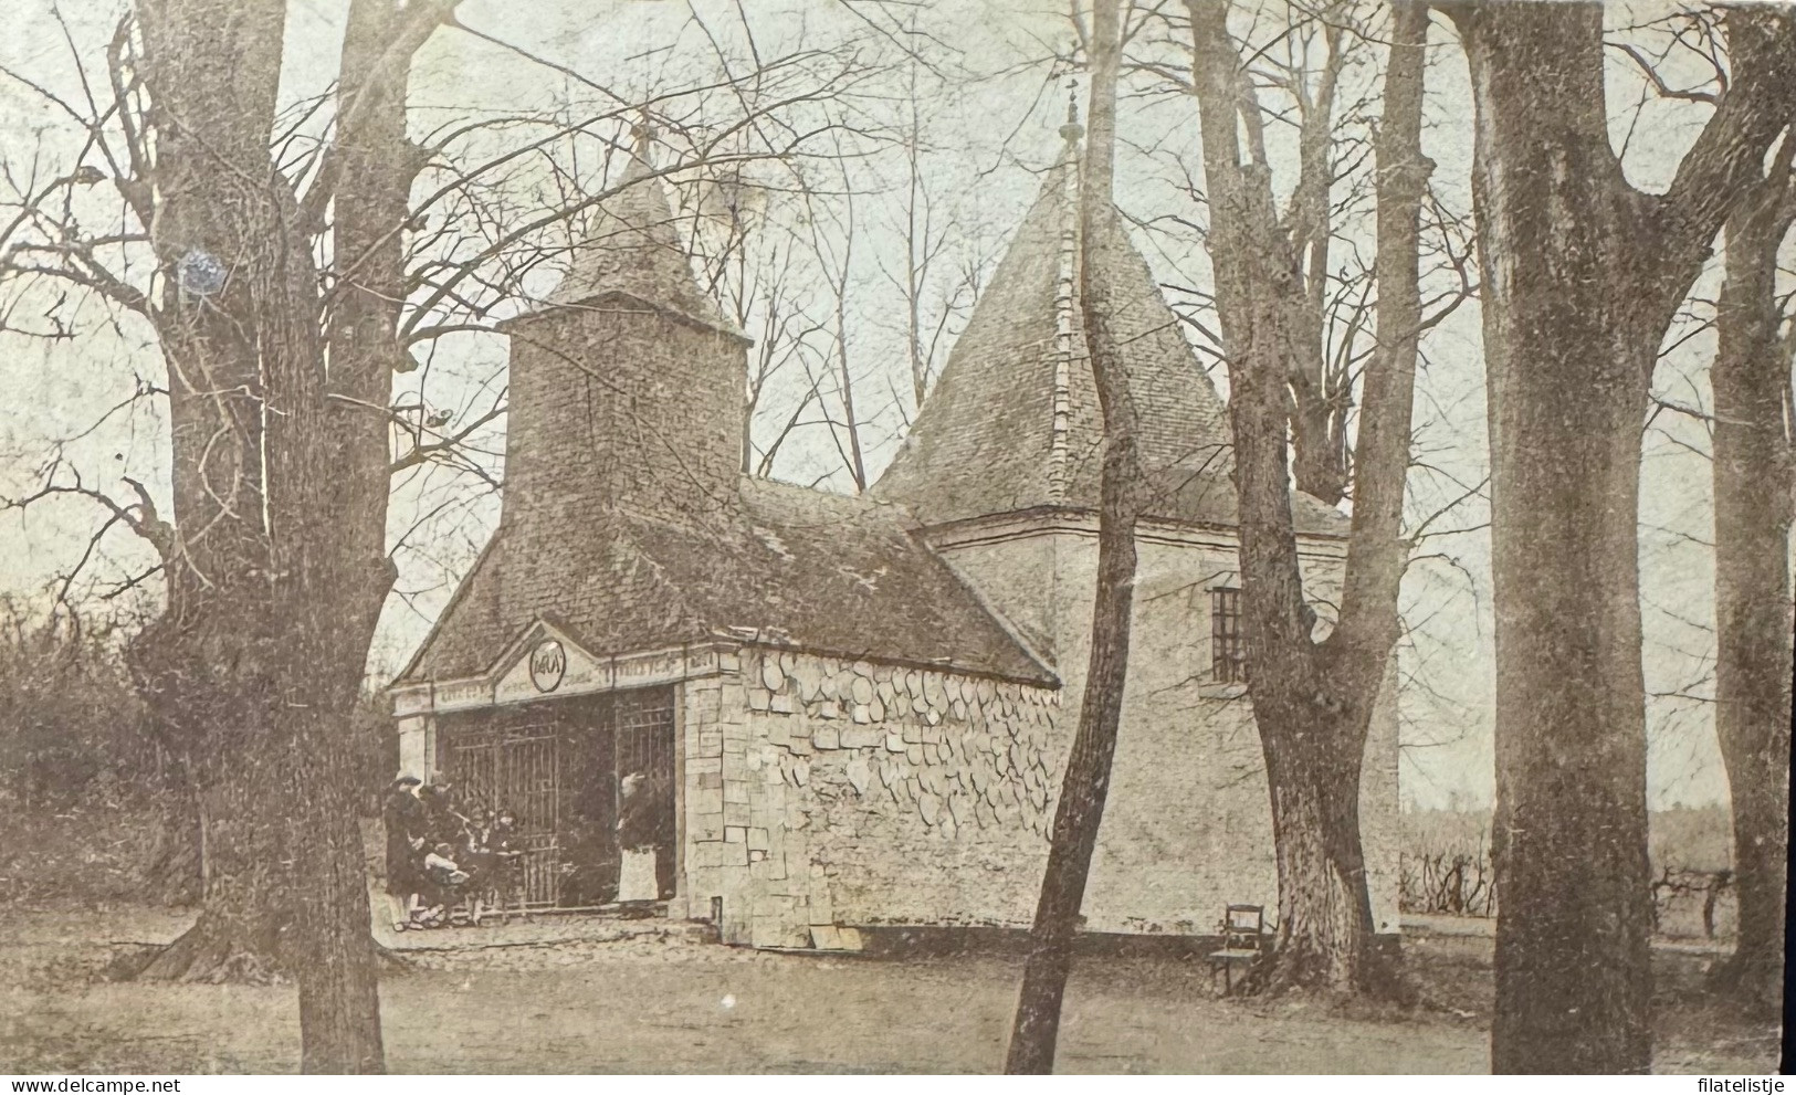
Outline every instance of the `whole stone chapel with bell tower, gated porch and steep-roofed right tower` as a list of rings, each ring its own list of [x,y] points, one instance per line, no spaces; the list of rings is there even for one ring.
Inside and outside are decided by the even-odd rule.
[[[530,903],[616,899],[620,783],[641,775],[670,833],[666,914],[726,942],[1029,924],[1097,564],[1081,131],[1061,135],[866,497],[742,474],[749,339],[693,278],[647,149],[560,287],[506,321],[499,526],[392,698],[406,770],[519,815]],[[1126,239],[1106,253],[1155,504],[1085,921],[1212,935],[1227,903],[1277,908],[1228,416],[1146,260]],[[1347,521],[1293,503],[1327,618]],[[1360,811],[1374,919],[1395,932],[1388,684]]]

